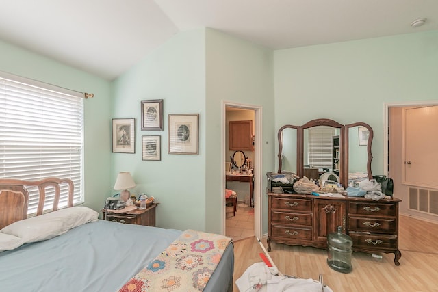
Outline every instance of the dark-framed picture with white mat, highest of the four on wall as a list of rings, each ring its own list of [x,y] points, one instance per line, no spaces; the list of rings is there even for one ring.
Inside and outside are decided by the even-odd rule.
[[[163,100],[141,101],[142,131],[163,130]]]

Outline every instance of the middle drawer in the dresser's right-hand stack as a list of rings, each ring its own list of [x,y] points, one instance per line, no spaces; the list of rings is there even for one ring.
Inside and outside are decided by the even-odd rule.
[[[396,218],[348,217],[348,230],[369,233],[395,233]]]

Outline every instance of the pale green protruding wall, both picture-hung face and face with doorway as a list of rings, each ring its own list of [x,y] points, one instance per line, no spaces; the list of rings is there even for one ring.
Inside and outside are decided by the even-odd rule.
[[[272,52],[213,29],[185,31],[116,79],[113,94],[114,118],[136,118],[138,142],[136,154],[112,156],[112,181],[130,171],[137,183],[133,192],[162,203],[159,227],[220,233],[222,100],[266,107],[271,118],[263,127],[270,128]],[[164,131],[140,131],[140,101],[156,98],[164,100]],[[200,114],[198,155],[167,153],[168,114]],[[141,160],[141,135],[162,136],[161,161]]]

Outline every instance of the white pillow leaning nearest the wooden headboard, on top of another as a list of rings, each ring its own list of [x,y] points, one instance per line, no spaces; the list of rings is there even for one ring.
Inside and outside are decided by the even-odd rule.
[[[0,233],[21,237],[24,242],[51,239],[88,222],[96,221],[99,213],[88,207],[71,207],[14,222]]]

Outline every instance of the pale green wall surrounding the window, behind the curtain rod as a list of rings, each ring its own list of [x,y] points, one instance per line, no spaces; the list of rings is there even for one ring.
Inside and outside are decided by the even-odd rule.
[[[85,205],[100,211],[110,194],[110,82],[0,41],[0,70],[53,85],[92,92],[85,101]]]

